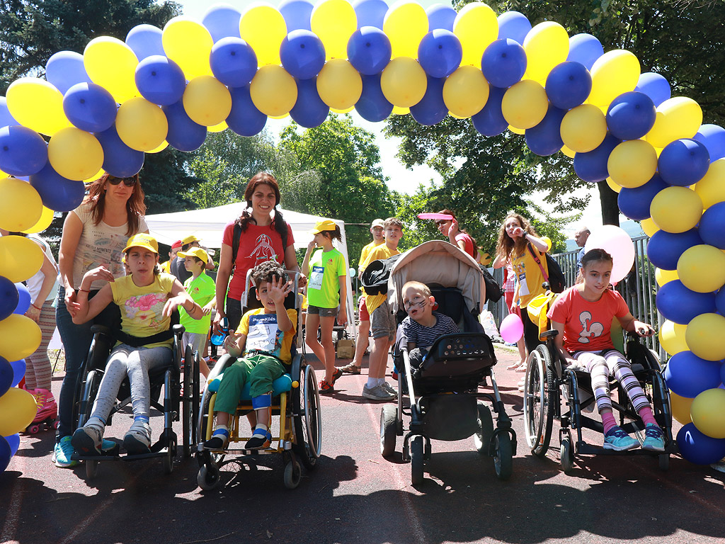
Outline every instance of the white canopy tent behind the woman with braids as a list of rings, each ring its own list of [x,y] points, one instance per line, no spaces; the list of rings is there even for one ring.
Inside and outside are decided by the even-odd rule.
[[[202,241],[205,247],[220,248],[222,247],[222,237],[224,227],[230,221],[241,215],[244,202],[234,202],[223,206],[206,208],[205,210],[188,210],[186,212],[159,213],[155,215],[146,215],[146,223],[149,224],[149,232],[159,242],[167,245],[173,244],[176,240],[181,240],[190,234],[196,235]],[[315,228],[315,223],[328,218],[318,217],[317,215],[308,215],[306,213],[293,212],[290,210],[279,209],[284,220],[292,227],[292,236],[294,236],[294,247],[296,249],[307,247],[312,240],[310,231]],[[345,257],[345,262],[349,265],[347,257],[347,239],[345,237],[345,223],[338,219],[333,219],[340,227],[342,234],[342,242],[338,244],[339,251]],[[349,274],[347,275],[347,332],[355,337],[355,307],[352,302],[352,282]]]

